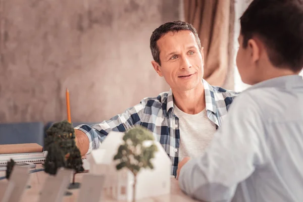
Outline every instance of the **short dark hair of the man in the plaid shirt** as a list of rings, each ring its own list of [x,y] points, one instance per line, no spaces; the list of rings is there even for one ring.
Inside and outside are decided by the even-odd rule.
[[[160,61],[160,49],[157,45],[157,41],[168,32],[178,32],[178,31],[182,31],[182,30],[191,31],[195,36],[199,50],[201,49],[201,43],[200,43],[200,39],[198,37],[198,33],[191,24],[183,22],[183,21],[167,22],[167,23],[161,25],[160,27],[158,27],[157,29],[155,29],[155,31],[153,31],[153,34],[151,34],[151,36],[150,36],[151,55],[153,55],[154,60],[159,65],[161,65],[161,61]]]

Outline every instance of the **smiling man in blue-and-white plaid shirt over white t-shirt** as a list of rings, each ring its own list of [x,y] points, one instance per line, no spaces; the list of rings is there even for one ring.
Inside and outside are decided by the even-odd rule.
[[[125,132],[141,125],[162,144],[172,161],[171,174],[176,176],[181,158],[203,153],[238,93],[203,79],[203,48],[192,25],[182,21],[161,25],[150,37],[150,49],[151,63],[170,91],[144,98],[108,121],[77,126],[76,143],[82,155],[88,154],[110,131]]]

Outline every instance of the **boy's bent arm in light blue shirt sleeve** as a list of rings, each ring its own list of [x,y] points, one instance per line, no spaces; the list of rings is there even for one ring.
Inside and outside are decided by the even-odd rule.
[[[260,114],[253,97],[237,97],[205,154],[181,168],[180,188],[200,200],[230,201],[237,184],[264,162]]]

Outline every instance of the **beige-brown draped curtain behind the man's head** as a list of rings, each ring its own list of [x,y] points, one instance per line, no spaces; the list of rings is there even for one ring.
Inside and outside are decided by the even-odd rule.
[[[233,89],[234,0],[184,0],[184,20],[191,23],[204,47],[204,79]]]

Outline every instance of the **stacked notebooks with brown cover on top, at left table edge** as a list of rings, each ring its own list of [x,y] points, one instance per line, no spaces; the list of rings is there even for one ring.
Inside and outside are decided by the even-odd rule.
[[[0,145],[0,165],[6,165],[13,159],[16,163],[43,163],[47,151],[36,143]]]

